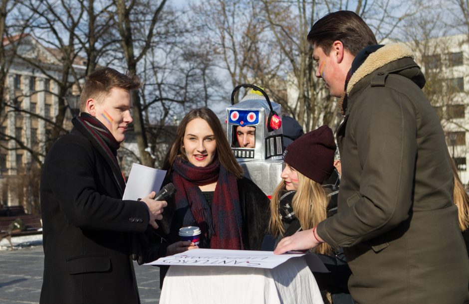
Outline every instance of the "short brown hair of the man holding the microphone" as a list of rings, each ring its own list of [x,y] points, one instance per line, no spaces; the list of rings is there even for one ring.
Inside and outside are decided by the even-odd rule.
[[[83,84],[80,95],[80,112],[85,112],[88,99],[93,98],[101,103],[112,88],[120,88],[130,92],[141,86],[142,83],[136,75],[128,72],[122,74],[109,67],[97,69],[86,77]]]

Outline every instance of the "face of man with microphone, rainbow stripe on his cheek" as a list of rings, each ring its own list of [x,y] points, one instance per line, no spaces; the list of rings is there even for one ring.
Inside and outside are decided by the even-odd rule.
[[[111,132],[117,142],[124,141],[127,125],[132,123],[130,93],[121,88],[112,88],[101,102],[94,103],[96,117]]]

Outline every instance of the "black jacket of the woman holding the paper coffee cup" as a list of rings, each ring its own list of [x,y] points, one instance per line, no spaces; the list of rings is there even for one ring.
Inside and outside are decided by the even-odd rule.
[[[246,177],[237,180],[237,191],[242,212],[243,247],[246,250],[259,250],[270,218],[269,199]],[[180,241],[179,229],[183,227],[183,219],[176,213],[174,199],[168,200],[168,206],[163,211],[163,220],[158,222],[158,226],[159,228],[151,236],[152,246],[146,252],[145,262],[166,256],[166,248]],[[160,269],[160,287],[163,286],[167,270],[166,266]]]

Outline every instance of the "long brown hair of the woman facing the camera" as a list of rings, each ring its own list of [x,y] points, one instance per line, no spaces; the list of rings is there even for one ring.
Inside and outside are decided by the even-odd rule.
[[[220,163],[237,178],[241,178],[241,166],[236,161],[236,158],[234,158],[233,152],[230,148],[230,145],[228,144],[227,136],[223,132],[222,124],[220,124],[220,120],[217,118],[217,115],[215,115],[215,113],[209,108],[194,109],[186,114],[186,116],[184,116],[181,124],[178,127],[178,131],[176,132],[176,139],[171,145],[170,151],[166,155],[165,161],[163,163],[163,169],[170,172],[176,157],[181,157],[188,161],[183,148],[184,134],[186,133],[186,127],[189,122],[196,118],[205,120],[214,132],[215,143],[217,144],[216,157],[218,157]]]

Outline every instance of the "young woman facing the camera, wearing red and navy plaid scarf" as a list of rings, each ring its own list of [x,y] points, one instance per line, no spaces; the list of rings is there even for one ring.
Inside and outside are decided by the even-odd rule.
[[[212,110],[195,109],[183,118],[163,169],[168,170],[165,182],[172,182],[177,191],[158,222],[156,232],[161,240],[146,260],[197,248],[179,240],[179,229],[186,226],[200,227],[200,248],[260,249],[267,231],[269,200],[242,176]],[[164,267],[160,274],[162,278],[166,274]]]

